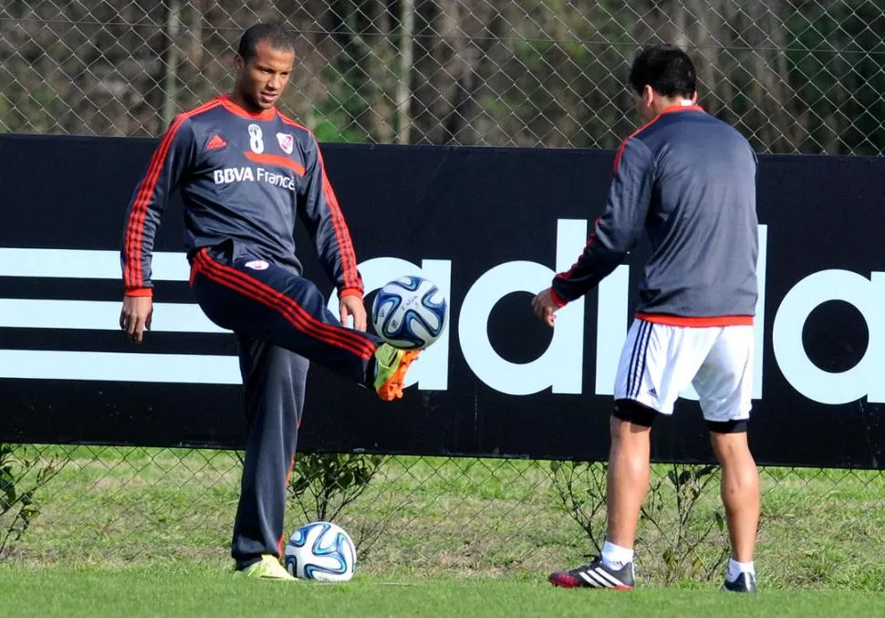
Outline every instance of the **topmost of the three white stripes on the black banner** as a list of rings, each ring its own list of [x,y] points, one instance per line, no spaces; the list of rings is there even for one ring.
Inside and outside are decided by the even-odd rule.
[[[187,281],[191,267],[183,253],[159,251],[151,261],[154,281]],[[120,279],[119,251],[14,249],[0,247],[0,277]]]

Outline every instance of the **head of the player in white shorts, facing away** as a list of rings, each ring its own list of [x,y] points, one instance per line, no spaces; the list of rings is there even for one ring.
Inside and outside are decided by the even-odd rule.
[[[630,89],[640,119],[648,121],[682,100],[697,100],[692,58],[672,45],[647,47],[633,60]]]

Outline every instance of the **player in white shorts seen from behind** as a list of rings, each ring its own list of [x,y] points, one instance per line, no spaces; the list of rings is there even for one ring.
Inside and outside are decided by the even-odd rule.
[[[557,309],[599,284],[648,233],[651,257],[615,382],[602,555],[549,581],[633,587],[651,424],[671,415],[692,384],[722,464],[732,549],[724,590],[755,592],[759,478],[746,429],[758,293],[756,156],[734,128],[697,106],[695,70],[678,47],[642,51],[630,88],[646,124],[620,146],[608,204],[578,261],[533,300],[536,316],[553,326]]]

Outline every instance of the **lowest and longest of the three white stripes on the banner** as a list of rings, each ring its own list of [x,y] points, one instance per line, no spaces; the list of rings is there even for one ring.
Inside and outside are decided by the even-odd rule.
[[[235,356],[0,350],[0,377],[26,380],[107,380],[240,384]]]

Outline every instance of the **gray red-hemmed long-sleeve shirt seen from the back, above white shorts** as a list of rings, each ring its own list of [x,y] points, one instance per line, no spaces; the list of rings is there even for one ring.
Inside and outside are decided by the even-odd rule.
[[[623,142],[605,212],[553,280],[564,305],[618,267],[643,230],[651,257],[637,315],[672,325],[752,324],[758,296],[755,152],[694,105],[664,110]]]

